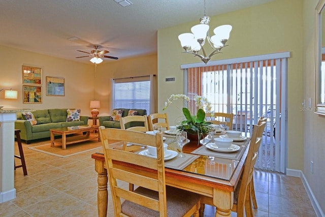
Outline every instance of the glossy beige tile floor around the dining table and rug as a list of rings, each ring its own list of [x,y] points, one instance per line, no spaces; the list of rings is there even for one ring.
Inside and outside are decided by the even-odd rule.
[[[97,174],[90,155],[101,149],[67,158],[28,149],[46,143],[23,143],[28,175],[16,169],[17,197],[0,204],[0,216],[97,216]],[[254,183],[255,216],[316,216],[300,178],[255,171]],[[214,212],[214,207],[206,206],[204,216],[212,217]],[[114,216],[111,202],[107,216]]]

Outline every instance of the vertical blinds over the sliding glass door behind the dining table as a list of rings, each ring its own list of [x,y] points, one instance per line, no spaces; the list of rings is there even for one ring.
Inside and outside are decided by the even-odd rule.
[[[231,59],[228,63],[219,60],[212,66],[181,66],[187,81],[185,94],[190,99],[196,95],[207,97],[214,112],[233,113],[233,130],[249,136],[258,118],[267,117],[255,167],[278,172],[286,168],[286,133],[282,133],[286,126],[281,113],[287,107],[283,88],[288,56],[286,52]]]

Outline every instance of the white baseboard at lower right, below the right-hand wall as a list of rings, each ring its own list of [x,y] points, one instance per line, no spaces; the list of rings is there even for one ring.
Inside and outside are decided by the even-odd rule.
[[[319,206],[319,203],[317,202],[317,199],[315,198],[315,195],[312,192],[303,171],[301,171],[301,170],[293,170],[293,169],[288,169],[287,168],[286,169],[286,174],[289,175],[289,176],[295,176],[295,177],[300,177],[301,178],[301,180],[302,180],[302,182],[304,184],[304,187],[305,187],[305,189],[307,191],[307,194],[309,196],[310,202],[311,202],[312,206],[314,207],[314,210],[315,210],[315,212],[317,214],[317,217],[325,217],[324,212],[321,210],[321,208]]]

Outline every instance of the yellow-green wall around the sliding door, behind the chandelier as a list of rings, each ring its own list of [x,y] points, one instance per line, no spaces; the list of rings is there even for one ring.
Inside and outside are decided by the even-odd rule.
[[[303,37],[302,0],[278,0],[257,7],[211,17],[210,26],[231,24],[229,45],[223,54],[212,57],[228,59],[259,54],[290,51],[288,60],[288,168],[303,170]],[[199,19],[199,17],[198,17]],[[158,109],[161,112],[171,94],[183,93],[181,64],[196,63],[200,59],[184,54],[178,35],[190,31],[197,22],[158,30]],[[175,82],[165,82],[175,77]],[[173,119],[181,113],[181,102],[166,111]],[[173,119],[171,122],[173,122]]]

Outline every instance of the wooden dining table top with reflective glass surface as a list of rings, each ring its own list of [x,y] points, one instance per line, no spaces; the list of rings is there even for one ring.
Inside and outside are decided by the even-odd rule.
[[[169,136],[169,135],[166,135]],[[173,137],[167,137],[167,140],[173,139]],[[248,146],[249,139],[243,142],[237,142],[238,145]],[[177,143],[168,142],[168,149],[178,150]],[[197,141],[190,141],[183,146],[184,153],[191,153],[197,148],[203,146]],[[245,148],[246,148],[245,147]],[[209,156],[200,156],[198,159],[194,160],[188,166],[182,170],[176,170],[171,168],[165,168],[166,177],[174,177],[179,180],[189,181],[189,182],[200,182],[206,186],[213,188],[222,188],[226,191],[233,192],[237,186],[239,176],[242,173],[243,165],[247,155],[247,148],[244,151],[240,160],[232,160],[226,158],[214,157],[214,164],[211,164]],[[103,153],[93,153],[91,158],[105,161]],[[176,157],[177,158],[177,157]],[[125,165],[126,166],[126,165]],[[127,165],[135,169],[139,169],[137,165]],[[224,173],[227,173],[225,176]]]

